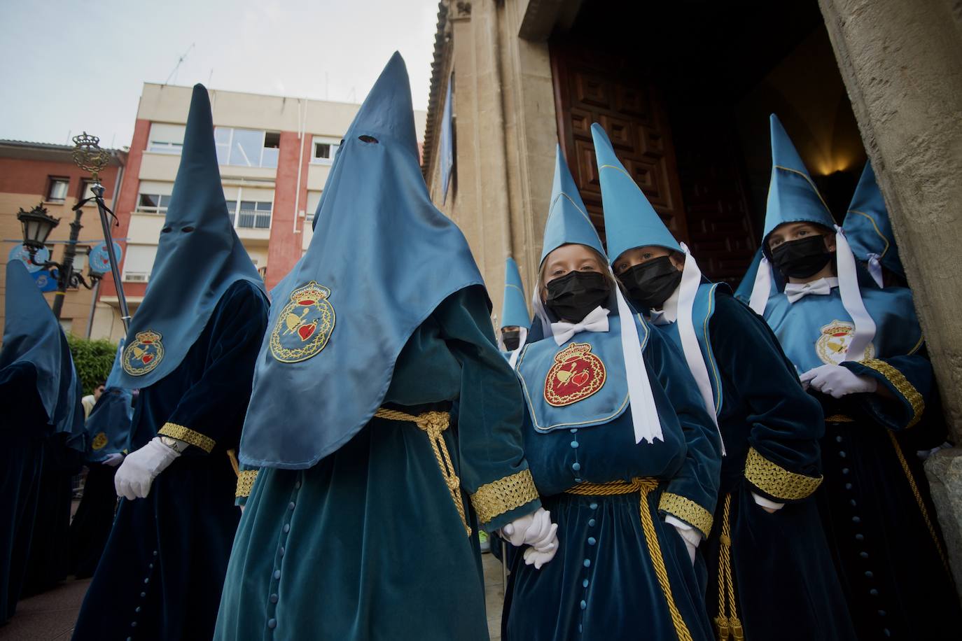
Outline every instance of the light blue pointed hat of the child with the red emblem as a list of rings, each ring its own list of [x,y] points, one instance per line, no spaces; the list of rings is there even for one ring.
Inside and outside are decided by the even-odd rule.
[[[568,162],[561,154],[561,145],[556,147],[554,161],[554,184],[551,185],[551,206],[544,223],[544,245],[542,258],[562,245],[577,243],[591,247],[604,256],[601,238],[588,215],[588,208],[581,200],[578,187],[574,185]]]

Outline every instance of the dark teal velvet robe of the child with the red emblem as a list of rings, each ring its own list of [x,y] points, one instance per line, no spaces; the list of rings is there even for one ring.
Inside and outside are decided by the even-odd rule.
[[[516,555],[501,619],[506,641],[676,639],[668,602],[649,555],[640,508],[651,516],[673,601],[692,637],[714,638],[696,576],[703,568],[693,567],[684,540],[662,516],[671,514],[702,534],[708,533],[717,497],[721,444],[684,357],[641,320],[639,334],[646,341],[643,355],[664,441],[635,444],[628,410],[608,423],[583,429],[543,432],[534,428],[530,414],[525,421],[524,456],[544,507],[558,524],[560,548],[540,570],[525,565],[522,556]],[[575,334],[571,340],[585,335]],[[617,341],[620,350],[617,331],[595,334],[594,339]],[[519,371],[533,348],[560,352],[564,346],[555,345],[551,338],[525,346]],[[544,384],[546,375],[546,371],[523,374],[531,393]],[[624,374],[612,367],[607,376],[623,379]],[[613,496],[566,493],[580,482],[637,477],[659,481],[647,495],[646,505],[640,505],[638,492]]]

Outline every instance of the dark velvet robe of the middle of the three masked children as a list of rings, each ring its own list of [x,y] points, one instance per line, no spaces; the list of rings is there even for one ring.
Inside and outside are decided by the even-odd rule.
[[[700,546],[708,562],[708,612],[713,620],[731,614],[727,589],[721,595],[723,610],[719,602],[728,501],[735,612],[745,637],[854,638],[812,497],[822,481],[822,408],[802,389],[765,321],[728,293],[708,288],[703,284],[699,292],[713,302],[702,308],[708,314],[707,336],[698,336],[710,343],[721,379],[715,394],[722,397],[718,420],[726,450],[715,527]],[[681,349],[676,323],[656,327],[665,328]],[[770,514],[752,492],[785,505]]]

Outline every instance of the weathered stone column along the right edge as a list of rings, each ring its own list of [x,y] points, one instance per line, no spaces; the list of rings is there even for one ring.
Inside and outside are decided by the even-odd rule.
[[[819,0],[962,443],[962,2]],[[962,586],[962,449],[926,464]]]

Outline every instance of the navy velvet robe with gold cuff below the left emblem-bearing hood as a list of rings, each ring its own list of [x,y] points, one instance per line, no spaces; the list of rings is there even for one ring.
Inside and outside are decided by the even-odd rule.
[[[232,284],[184,360],[140,390],[130,450],[158,433],[190,443],[144,499],[120,502],[74,639],[209,639],[241,517],[228,451],[241,438],[267,301]]]

